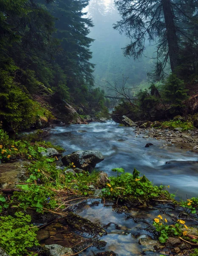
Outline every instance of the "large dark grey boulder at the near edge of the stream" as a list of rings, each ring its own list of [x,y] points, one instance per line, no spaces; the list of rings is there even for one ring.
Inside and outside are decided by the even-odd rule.
[[[104,160],[104,157],[100,151],[88,150],[88,151],[75,151],[70,155],[62,157],[62,163],[64,166],[69,166],[70,163],[74,163],[74,166],[83,170],[93,169],[97,163]]]

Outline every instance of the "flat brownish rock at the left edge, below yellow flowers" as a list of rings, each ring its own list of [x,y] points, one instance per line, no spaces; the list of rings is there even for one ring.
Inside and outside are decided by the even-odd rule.
[[[0,188],[14,189],[16,188],[14,183],[27,180],[28,173],[25,166],[28,165],[30,165],[28,161],[0,164]]]

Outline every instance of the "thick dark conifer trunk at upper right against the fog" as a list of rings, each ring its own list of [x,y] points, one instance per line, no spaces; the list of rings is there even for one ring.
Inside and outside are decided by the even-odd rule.
[[[178,55],[179,55],[179,47],[178,47],[178,38],[176,35],[176,28],[174,23],[174,15],[171,8],[170,0],[161,0],[165,25],[167,29],[167,41],[169,48],[169,58],[170,58],[170,67],[173,73],[175,73],[176,67],[178,66]]]

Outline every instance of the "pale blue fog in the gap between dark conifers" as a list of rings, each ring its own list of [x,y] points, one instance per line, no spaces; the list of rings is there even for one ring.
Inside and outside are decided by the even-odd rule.
[[[113,23],[121,19],[114,1],[90,0],[85,11],[94,24],[89,37],[95,39],[91,45],[91,62],[96,64],[93,73],[95,85],[105,88],[105,81],[113,85],[115,80],[121,84],[124,76],[128,77],[127,87],[136,87],[136,90],[148,87],[147,73],[154,66],[154,43],[146,42],[144,55],[138,60],[125,57],[122,48],[130,43],[130,39],[113,29]]]

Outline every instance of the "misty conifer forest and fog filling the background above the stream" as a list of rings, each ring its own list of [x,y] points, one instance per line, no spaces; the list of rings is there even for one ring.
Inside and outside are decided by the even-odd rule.
[[[196,113],[197,24],[195,0],[0,0],[4,130]]]

